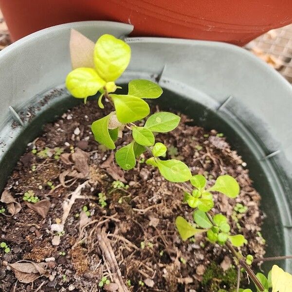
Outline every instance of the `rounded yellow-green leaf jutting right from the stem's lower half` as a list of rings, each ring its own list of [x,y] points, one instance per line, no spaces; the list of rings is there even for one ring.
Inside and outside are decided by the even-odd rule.
[[[239,194],[239,185],[230,175],[222,175],[209,190],[220,192],[229,198],[236,198]]]

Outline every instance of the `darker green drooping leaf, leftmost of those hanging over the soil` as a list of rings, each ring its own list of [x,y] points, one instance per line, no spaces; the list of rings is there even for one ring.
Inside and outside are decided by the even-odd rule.
[[[112,141],[108,128],[110,116],[111,114],[93,122],[91,125],[91,131],[94,135],[94,139],[98,143],[103,144],[110,149],[114,149],[115,145],[114,142]]]

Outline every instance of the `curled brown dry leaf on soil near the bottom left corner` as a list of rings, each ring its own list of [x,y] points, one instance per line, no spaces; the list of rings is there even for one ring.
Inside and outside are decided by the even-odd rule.
[[[14,272],[16,278],[21,283],[32,283],[41,276],[49,277],[50,273],[47,268],[47,263],[34,263],[34,262],[16,262],[8,264]]]

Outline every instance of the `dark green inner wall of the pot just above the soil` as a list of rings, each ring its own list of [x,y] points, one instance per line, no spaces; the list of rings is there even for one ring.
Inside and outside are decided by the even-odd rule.
[[[83,100],[72,98],[67,93],[65,95],[63,94],[61,97],[55,98],[54,103],[47,107],[45,111],[37,114],[31,120],[29,126],[23,128],[21,134],[15,139],[15,142],[7,146],[3,159],[0,161],[0,190],[4,187],[7,177],[12,172],[19,157],[23,154],[26,145],[41,133],[42,126],[46,123],[53,122],[63,112],[81,102]],[[262,235],[267,242],[267,256],[284,255],[285,241],[279,210],[275,200],[276,194],[273,193],[269,178],[264,174],[261,164],[256,159],[252,149],[249,148],[244,137],[230,127],[224,118],[216,112],[208,110],[202,104],[186,99],[172,91],[164,90],[163,96],[155,100],[156,102],[160,105],[161,109],[180,111],[188,115],[194,120],[193,125],[201,126],[208,130],[215,128],[219,132],[224,133],[233,149],[236,149],[247,163],[247,167],[250,170],[250,177],[254,181],[254,186],[262,196],[261,209],[267,214],[262,231]],[[284,263],[279,262],[277,264],[283,266]],[[272,263],[267,263],[265,270],[271,268],[271,266]]]

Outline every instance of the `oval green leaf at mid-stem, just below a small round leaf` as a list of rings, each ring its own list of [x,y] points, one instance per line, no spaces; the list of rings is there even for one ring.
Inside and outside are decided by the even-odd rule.
[[[157,160],[157,166],[161,175],[169,182],[183,183],[188,181],[192,174],[188,166],[180,160]]]

